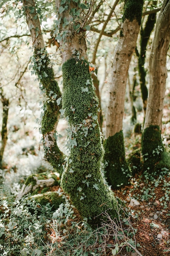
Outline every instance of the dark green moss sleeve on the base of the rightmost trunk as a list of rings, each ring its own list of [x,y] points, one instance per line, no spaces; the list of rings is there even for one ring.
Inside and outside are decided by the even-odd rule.
[[[143,169],[148,173],[159,173],[170,168],[170,155],[165,152],[159,126],[149,126],[141,137],[141,150],[144,159]]]

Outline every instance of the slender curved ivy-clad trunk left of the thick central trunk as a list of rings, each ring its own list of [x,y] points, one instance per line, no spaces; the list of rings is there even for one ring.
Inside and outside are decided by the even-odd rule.
[[[64,155],[56,142],[56,127],[60,116],[61,92],[55,81],[50,59],[46,52],[40,21],[34,0],[22,0],[26,22],[29,27],[34,48],[34,70],[40,80],[40,89],[44,95],[41,130],[46,160],[60,173],[63,171]]]

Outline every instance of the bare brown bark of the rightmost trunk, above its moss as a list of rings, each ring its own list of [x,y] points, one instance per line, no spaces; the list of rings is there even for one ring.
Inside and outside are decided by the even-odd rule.
[[[150,125],[156,125],[161,130],[167,78],[166,55],[169,45],[170,1],[166,0],[163,2],[152,42],[149,61],[150,87],[144,129]]]

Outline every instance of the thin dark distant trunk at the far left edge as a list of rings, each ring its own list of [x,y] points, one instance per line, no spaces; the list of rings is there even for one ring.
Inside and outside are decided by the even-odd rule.
[[[0,101],[2,102],[2,130],[1,130],[1,146],[0,146],[0,166],[2,166],[2,158],[4,155],[4,149],[7,145],[7,120],[9,110],[9,99],[4,97],[2,88],[0,88]]]

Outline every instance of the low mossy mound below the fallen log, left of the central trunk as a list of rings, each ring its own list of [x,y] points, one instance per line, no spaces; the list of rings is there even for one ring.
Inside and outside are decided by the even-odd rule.
[[[56,192],[46,192],[43,194],[34,195],[32,198],[41,206],[49,204],[53,211],[58,209],[60,204],[65,202],[62,196],[59,196]]]

